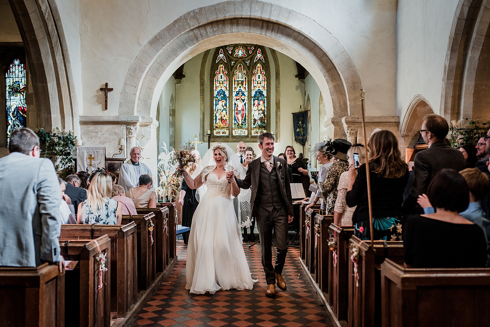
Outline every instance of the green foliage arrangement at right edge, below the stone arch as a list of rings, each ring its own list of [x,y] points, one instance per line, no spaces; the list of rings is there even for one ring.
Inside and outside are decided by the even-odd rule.
[[[487,134],[490,120],[462,119],[452,120],[449,126],[449,141],[451,146],[459,147],[465,144],[476,145],[478,140]]]

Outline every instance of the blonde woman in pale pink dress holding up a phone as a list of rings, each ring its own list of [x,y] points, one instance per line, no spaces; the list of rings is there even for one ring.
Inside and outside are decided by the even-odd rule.
[[[359,165],[366,163],[366,156],[364,154],[364,145],[354,144],[347,151],[347,162],[349,168],[354,166],[354,153],[359,155]],[[337,190],[337,200],[335,200],[334,207],[334,224],[337,226],[352,226],[352,215],[356,210],[356,207],[347,207],[345,204],[345,195],[347,194],[347,188],[349,187],[349,172],[344,171],[340,175],[339,186]]]

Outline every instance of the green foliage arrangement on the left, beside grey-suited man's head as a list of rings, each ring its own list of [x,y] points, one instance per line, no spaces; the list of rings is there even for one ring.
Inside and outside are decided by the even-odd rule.
[[[73,131],[60,131],[56,127],[51,132],[44,128],[38,128],[34,132],[41,143],[43,150],[41,156],[53,161],[56,171],[60,172],[60,177],[71,174],[74,168],[72,151],[76,140]]]

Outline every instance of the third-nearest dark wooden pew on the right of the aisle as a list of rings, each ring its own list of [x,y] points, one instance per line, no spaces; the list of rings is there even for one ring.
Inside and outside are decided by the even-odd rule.
[[[347,269],[349,260],[349,238],[354,234],[353,226],[328,227],[329,249],[328,302],[339,321],[347,321]]]

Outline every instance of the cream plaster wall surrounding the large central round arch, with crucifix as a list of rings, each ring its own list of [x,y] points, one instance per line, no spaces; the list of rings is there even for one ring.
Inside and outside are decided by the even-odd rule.
[[[217,2],[79,0],[83,114],[116,115],[124,75],[141,47],[179,16]],[[269,2],[304,14],[331,32],[375,99],[368,115],[394,115],[396,0]],[[98,91],[104,82],[114,88],[107,112]]]

